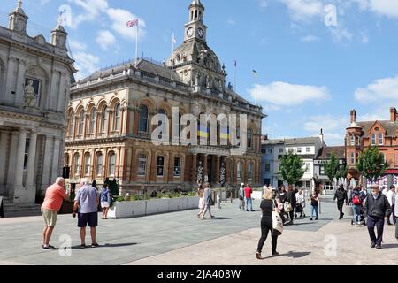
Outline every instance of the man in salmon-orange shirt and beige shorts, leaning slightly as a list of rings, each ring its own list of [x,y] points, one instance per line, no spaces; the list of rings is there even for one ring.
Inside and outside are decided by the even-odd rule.
[[[42,218],[44,219],[44,230],[42,231],[42,250],[56,249],[50,245],[50,238],[57,224],[57,213],[61,209],[62,202],[69,201],[69,195],[65,193],[65,179],[57,178],[55,184],[46,190],[44,202],[42,203]]]

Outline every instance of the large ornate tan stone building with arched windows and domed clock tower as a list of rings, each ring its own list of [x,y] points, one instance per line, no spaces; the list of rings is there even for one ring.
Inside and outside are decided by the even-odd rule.
[[[185,40],[164,64],[140,58],[93,73],[73,84],[67,113],[65,167],[70,182],[88,177],[103,184],[119,180],[122,193],[191,190],[198,181],[236,187],[241,182],[261,185],[261,125],[265,115],[226,87],[226,71],[206,42],[204,7],[189,5]],[[173,79],[172,79],[173,78]],[[157,146],[151,133],[160,124],[151,119],[164,114],[172,120],[184,114],[237,114],[248,117],[248,150],[233,155],[232,144],[222,145],[230,133],[217,127],[213,145],[177,142]],[[174,115],[174,117],[176,116]],[[188,124],[183,124],[188,126]],[[177,137],[184,126],[178,126]],[[198,137],[209,138],[209,127]],[[170,134],[167,141],[175,141]]]

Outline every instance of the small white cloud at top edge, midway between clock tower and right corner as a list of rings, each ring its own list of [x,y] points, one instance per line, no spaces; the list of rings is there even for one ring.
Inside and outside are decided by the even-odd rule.
[[[309,21],[324,12],[325,5],[320,0],[281,0],[287,5],[292,18],[297,21]]]

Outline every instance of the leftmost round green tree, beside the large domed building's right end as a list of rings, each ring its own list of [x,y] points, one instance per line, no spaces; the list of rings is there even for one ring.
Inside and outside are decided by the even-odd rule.
[[[302,169],[303,165],[302,158],[293,154],[293,152],[289,152],[288,155],[282,157],[279,173],[288,185],[295,185],[305,173],[305,170]]]

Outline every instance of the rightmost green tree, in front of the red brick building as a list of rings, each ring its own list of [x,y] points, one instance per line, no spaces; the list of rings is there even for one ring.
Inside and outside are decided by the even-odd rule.
[[[371,180],[372,183],[375,183],[384,175],[389,165],[388,161],[384,160],[384,155],[380,153],[379,148],[369,147],[369,149],[366,149],[358,158],[356,170],[367,180]]]

